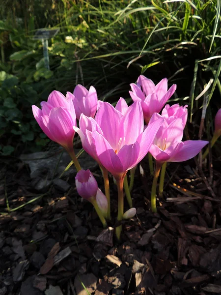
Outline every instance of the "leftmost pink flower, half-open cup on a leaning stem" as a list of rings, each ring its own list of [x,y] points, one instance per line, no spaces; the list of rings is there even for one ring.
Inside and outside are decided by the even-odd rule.
[[[67,150],[73,149],[76,115],[72,100],[59,91],[53,91],[47,102],[41,102],[41,108],[32,106],[34,118],[42,131]]]

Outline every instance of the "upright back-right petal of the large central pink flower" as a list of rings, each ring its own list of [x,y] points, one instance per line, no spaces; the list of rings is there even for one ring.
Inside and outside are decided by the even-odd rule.
[[[122,138],[121,145],[134,144],[143,132],[143,112],[138,101],[134,102],[127,110],[118,126],[117,138]]]

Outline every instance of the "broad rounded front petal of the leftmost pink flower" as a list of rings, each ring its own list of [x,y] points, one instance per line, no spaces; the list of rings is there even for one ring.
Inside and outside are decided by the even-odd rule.
[[[73,147],[74,121],[67,109],[62,107],[52,109],[48,124],[50,132],[59,145],[65,148]]]

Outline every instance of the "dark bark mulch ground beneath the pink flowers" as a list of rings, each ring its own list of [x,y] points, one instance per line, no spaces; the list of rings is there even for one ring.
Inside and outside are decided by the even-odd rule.
[[[153,214],[144,160],[144,175],[138,166],[132,192],[137,215],[123,223],[119,244],[112,179],[113,222],[104,230],[91,204],[78,196],[74,176],[64,178],[71,185],[67,192],[53,184],[40,195],[25,164],[3,162],[0,295],[221,294],[219,162],[214,170],[202,167],[204,174],[193,160],[170,164],[164,200]],[[99,170],[95,176],[102,188]]]

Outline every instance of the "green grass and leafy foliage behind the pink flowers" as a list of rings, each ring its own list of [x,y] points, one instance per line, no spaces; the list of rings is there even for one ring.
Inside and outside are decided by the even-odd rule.
[[[94,85],[100,99],[114,102],[129,98],[140,73],[176,83],[173,100],[185,100],[196,123],[208,104],[212,122],[221,107],[220,10],[221,0],[1,1],[0,152],[47,146],[31,105],[52,90]],[[33,40],[39,28],[60,28],[49,40],[50,70]]]

